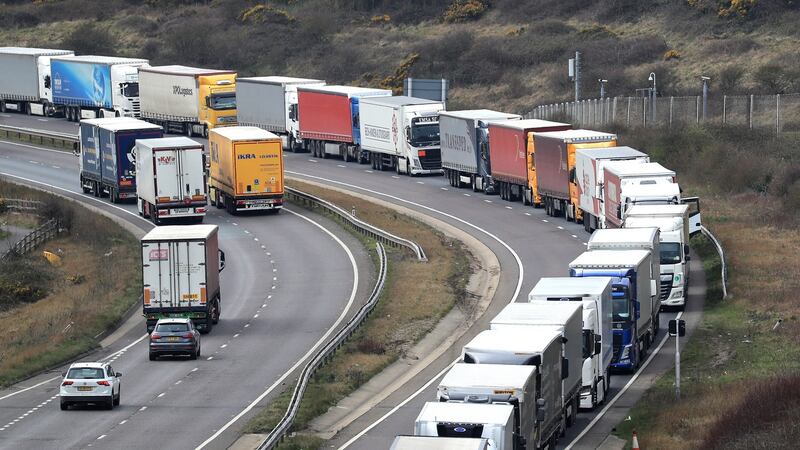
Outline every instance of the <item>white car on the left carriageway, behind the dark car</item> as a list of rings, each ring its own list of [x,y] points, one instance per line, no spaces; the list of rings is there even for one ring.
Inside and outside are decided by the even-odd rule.
[[[61,410],[75,403],[93,403],[114,409],[119,405],[121,376],[108,363],[84,362],[69,366],[61,381]]]

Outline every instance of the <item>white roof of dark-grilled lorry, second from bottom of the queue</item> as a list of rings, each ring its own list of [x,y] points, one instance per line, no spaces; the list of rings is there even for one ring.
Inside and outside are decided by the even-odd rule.
[[[514,407],[508,404],[427,402],[417,421],[505,425],[512,414]]]

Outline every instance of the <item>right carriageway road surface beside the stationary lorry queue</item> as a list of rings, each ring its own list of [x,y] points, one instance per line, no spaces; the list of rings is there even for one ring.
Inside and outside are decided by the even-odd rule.
[[[75,132],[76,129],[74,124],[58,119],[44,122],[24,116],[8,116],[2,118],[2,123],[61,132]],[[377,173],[369,170],[368,166],[340,160],[317,160],[303,153],[286,153],[286,171],[288,176],[297,179],[346,189],[444,220],[486,244],[497,255],[502,268],[495,301],[486,314],[435,364],[341,430],[328,443],[331,447],[388,448],[395,435],[410,434],[422,403],[435,399],[436,379],[458,358],[461,346],[486,329],[491,317],[505,304],[526,301],[527,293],[539,278],[567,276],[568,263],[584,251],[588,239],[582,225],[547,217],[542,210],[521,203],[508,203],[497,196],[452,188],[443,177],[409,178],[389,172]],[[691,294],[690,307],[684,314],[690,326],[700,316],[701,299],[702,293],[695,290]],[[675,316],[676,312],[662,313],[662,329],[657,342],[665,334],[667,321]],[[654,358],[652,366],[665,370],[669,364],[670,353],[662,351]],[[630,375],[621,374],[612,377],[610,398],[619,393],[630,378]],[[567,430],[559,446],[571,443],[597,412],[579,414],[576,425]],[[593,448],[597,443],[593,441],[590,445],[584,440],[576,447]]]

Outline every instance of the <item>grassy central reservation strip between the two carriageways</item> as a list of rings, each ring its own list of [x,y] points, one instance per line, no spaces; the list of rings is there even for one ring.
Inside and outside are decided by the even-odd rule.
[[[387,249],[388,274],[377,306],[361,328],[320,368],[308,386],[292,428],[299,431],[280,449],[318,448],[324,441],[303,433],[310,421],[325,413],[374,375],[396,361],[430,332],[453,306],[473,307],[467,301],[471,274],[469,256],[458,241],[393,210],[316,186],[291,182],[292,187],[351,210],[372,225],[420,244],[428,256],[420,263],[405,249]],[[363,239],[360,235],[360,239]],[[370,255],[377,258],[368,241]],[[268,433],[286,411],[293,386],[244,427],[244,433]]]

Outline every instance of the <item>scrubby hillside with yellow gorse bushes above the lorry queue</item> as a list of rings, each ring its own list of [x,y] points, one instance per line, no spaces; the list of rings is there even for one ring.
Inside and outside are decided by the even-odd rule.
[[[800,91],[800,2],[793,0],[39,0],[0,3],[0,45],[234,68],[398,88],[443,77],[451,108],[524,112],[583,93]]]

